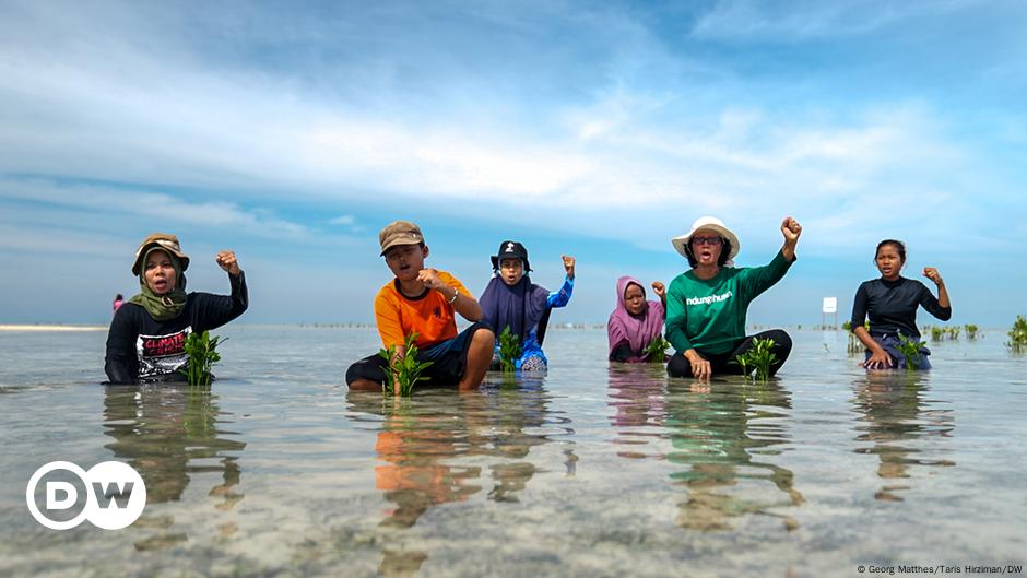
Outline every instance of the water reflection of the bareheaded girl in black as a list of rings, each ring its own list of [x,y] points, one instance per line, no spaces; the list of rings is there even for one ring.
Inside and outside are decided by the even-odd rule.
[[[928,371],[870,371],[853,384],[853,403],[861,414],[855,439],[872,444],[855,451],[875,453],[881,460],[877,476],[884,482],[874,494],[877,499],[901,502],[897,492],[909,489],[911,465],[955,465],[951,460],[924,457],[917,447],[924,438],[952,436],[955,427],[953,411],[925,398],[930,376]]]

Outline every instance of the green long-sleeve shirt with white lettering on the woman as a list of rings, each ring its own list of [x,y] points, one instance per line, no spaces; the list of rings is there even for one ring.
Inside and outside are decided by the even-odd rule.
[[[784,276],[791,262],[778,251],[764,267],[721,267],[713,279],[686,271],[666,292],[666,340],[684,353],[728,353],[745,338],[748,304]]]

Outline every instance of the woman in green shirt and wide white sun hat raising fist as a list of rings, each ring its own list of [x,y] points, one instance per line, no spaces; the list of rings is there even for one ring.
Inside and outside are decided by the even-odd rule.
[[[692,266],[674,281],[666,294],[666,340],[676,353],[666,365],[671,377],[708,378],[715,374],[742,373],[735,357],[753,347],[754,339],[772,339],[777,357],[770,375],[791,353],[792,340],[780,329],[745,334],[748,304],[784,276],[795,261],[795,245],[802,227],[792,217],[781,223],[784,245],[764,267],[733,267],[739,238],[712,216],[696,220],[692,231],[671,239]]]

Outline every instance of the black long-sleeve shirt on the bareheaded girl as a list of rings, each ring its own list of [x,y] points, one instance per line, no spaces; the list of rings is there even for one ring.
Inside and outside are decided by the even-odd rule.
[[[952,319],[952,307],[942,307],[931,291],[919,281],[906,278],[864,281],[857,290],[852,304],[852,328],[862,327],[869,315],[871,335],[901,333],[919,340],[917,308],[921,305],[942,321]]]

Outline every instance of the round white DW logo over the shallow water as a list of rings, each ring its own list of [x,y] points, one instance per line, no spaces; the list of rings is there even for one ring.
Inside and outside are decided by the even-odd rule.
[[[56,480],[58,474],[78,477],[73,481]],[[36,503],[36,489],[44,476],[44,508]],[[78,482],[78,484],[75,483]],[[85,497],[81,504],[79,491]],[[51,461],[36,470],[25,488],[28,511],[37,522],[51,530],[69,530],[88,520],[104,530],[120,530],[134,522],[146,506],[146,485],[131,465],[119,461],[97,463],[85,471],[69,461]],[[74,514],[79,506],[82,511]]]

